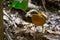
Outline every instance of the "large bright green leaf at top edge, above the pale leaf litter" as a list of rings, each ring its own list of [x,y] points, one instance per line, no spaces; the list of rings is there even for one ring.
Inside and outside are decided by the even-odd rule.
[[[22,2],[14,1],[10,5],[10,8],[13,8],[13,7],[16,9],[21,9],[21,10],[25,11],[28,8],[28,1],[27,0],[23,0]]]

